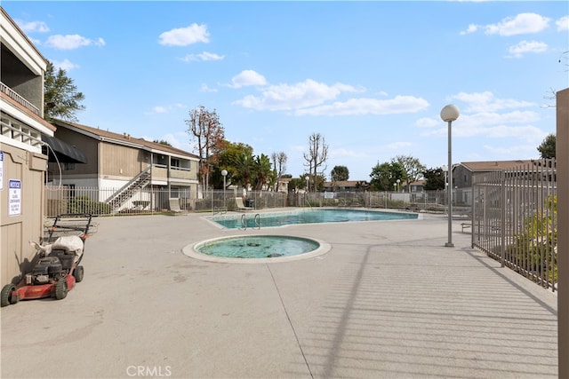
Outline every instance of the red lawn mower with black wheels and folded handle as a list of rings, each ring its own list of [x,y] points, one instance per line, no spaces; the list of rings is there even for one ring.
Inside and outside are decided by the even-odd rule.
[[[42,245],[30,242],[39,251],[36,265],[18,284],[2,288],[0,305],[20,300],[68,296],[68,291],[83,280],[84,243],[91,227],[92,215],[68,213],[55,217],[48,237]]]

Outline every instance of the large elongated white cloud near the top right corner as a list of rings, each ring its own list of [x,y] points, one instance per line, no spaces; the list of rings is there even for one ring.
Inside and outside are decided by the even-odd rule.
[[[549,26],[549,18],[537,13],[520,13],[515,17],[507,17],[496,24],[469,25],[461,34],[474,33],[483,29],[486,35],[517,36],[539,33]]]

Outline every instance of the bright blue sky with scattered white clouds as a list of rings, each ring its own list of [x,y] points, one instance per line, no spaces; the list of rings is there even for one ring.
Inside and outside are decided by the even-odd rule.
[[[77,122],[197,153],[189,112],[215,110],[231,142],[327,178],[368,180],[399,155],[446,164],[539,158],[569,87],[566,1],[14,1],[4,10],[66,70]]]

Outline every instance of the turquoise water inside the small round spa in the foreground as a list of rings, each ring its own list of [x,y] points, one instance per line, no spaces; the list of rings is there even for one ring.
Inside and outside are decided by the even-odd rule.
[[[308,253],[320,247],[314,240],[286,235],[236,236],[196,245],[198,253],[229,258],[275,258]]]

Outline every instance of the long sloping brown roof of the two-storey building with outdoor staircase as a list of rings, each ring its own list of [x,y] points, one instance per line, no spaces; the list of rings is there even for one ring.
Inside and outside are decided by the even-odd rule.
[[[187,151],[177,149],[172,146],[167,146],[164,144],[159,144],[153,141],[147,141],[144,138],[134,138],[127,133],[115,133],[113,131],[101,130],[98,128],[92,128],[90,126],[82,125],[76,122],[68,122],[63,120],[53,120],[53,124],[57,127],[67,128],[69,130],[75,130],[78,133],[84,134],[85,136],[96,138],[99,140],[106,140],[108,142],[116,143],[124,146],[138,147],[143,150],[148,150],[151,152],[160,152],[170,155],[181,155],[184,157],[191,157],[199,159],[196,154],[188,153]]]

